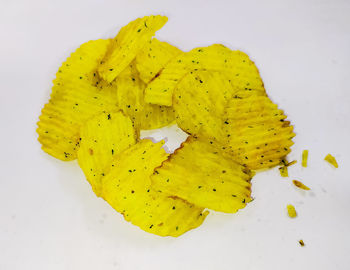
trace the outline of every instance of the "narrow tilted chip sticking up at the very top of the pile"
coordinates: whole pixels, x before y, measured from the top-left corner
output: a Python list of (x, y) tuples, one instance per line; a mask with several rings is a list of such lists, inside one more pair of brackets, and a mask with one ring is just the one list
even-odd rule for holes
[(112, 82), (167, 20), (167, 17), (160, 15), (145, 16), (122, 27), (98, 68), (100, 76)]

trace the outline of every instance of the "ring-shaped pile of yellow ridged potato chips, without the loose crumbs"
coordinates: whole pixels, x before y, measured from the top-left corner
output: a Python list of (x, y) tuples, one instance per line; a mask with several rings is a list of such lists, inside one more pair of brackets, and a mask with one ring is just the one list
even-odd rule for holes
[[(153, 38), (164, 16), (81, 45), (59, 68), (37, 132), (42, 149), (78, 160), (97, 196), (141, 229), (179, 236), (208, 210), (235, 213), (256, 171), (281, 164), (293, 127), (249, 57), (214, 44), (183, 52)], [(176, 123), (174, 153), (140, 130)]]

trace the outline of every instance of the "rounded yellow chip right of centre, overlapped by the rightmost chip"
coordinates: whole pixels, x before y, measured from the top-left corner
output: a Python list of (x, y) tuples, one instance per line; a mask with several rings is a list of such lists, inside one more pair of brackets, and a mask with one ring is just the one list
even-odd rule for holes
[(224, 74), (198, 70), (188, 73), (173, 96), (175, 118), (185, 132), (214, 140), (222, 137), (225, 107), (234, 89)]

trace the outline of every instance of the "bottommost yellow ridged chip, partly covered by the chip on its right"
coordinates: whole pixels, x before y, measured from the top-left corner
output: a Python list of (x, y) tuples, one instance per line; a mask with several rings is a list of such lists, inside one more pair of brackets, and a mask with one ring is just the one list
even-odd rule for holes
[(142, 230), (179, 236), (201, 225), (208, 212), (152, 188), (154, 168), (168, 157), (162, 144), (142, 140), (116, 157), (116, 166), (103, 178), (102, 197)]

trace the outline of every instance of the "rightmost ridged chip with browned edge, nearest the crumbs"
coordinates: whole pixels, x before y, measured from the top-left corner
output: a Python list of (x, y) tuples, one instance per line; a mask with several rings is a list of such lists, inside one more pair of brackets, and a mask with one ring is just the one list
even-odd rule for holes
[(251, 170), (276, 166), (291, 151), (291, 139), (295, 136), (293, 126), (285, 118), (267, 96), (244, 97), (237, 93), (222, 120), (226, 138), (223, 148)]

